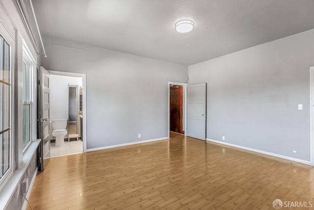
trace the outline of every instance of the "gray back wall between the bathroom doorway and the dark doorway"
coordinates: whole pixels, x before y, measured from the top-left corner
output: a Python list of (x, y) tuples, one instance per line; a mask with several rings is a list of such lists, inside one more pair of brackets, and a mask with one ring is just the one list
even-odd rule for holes
[(168, 81), (186, 82), (187, 66), (61, 40), (44, 42), (47, 70), (86, 74), (87, 149), (168, 136)]

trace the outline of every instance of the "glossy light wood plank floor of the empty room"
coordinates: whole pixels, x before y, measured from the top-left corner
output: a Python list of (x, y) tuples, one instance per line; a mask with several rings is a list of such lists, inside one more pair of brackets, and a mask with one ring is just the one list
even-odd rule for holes
[(274, 210), (274, 199), (314, 202), (313, 180), (307, 165), (172, 134), (52, 158), (29, 201), (34, 210)]

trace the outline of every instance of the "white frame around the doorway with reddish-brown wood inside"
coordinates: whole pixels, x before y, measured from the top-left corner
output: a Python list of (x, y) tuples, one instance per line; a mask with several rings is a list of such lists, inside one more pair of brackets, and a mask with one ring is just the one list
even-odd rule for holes
[(183, 88), (183, 129), (184, 136), (186, 136), (186, 87), (187, 83), (176, 83), (176, 82), (168, 82), (168, 139), (170, 138), (170, 85), (180, 85)]

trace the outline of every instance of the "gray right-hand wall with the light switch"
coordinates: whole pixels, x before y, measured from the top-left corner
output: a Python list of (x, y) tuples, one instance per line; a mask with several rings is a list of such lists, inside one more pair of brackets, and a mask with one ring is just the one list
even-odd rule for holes
[(189, 84), (207, 83), (207, 138), (310, 161), (313, 38), (309, 30), (189, 66)]

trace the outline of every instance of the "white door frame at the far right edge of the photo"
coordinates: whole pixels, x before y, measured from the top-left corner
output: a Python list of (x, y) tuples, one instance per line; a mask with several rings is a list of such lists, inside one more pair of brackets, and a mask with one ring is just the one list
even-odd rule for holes
[(310, 136), (310, 162), (314, 165), (314, 66), (310, 67)]

